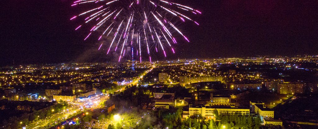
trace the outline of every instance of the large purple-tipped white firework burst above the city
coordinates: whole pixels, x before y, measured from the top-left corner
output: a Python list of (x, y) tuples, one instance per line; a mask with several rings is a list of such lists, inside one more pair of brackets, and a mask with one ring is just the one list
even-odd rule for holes
[[(185, 41), (188, 38), (173, 24), (176, 18), (180, 22), (190, 21), (199, 25), (186, 14), (201, 14), (191, 7), (170, 2), (169, 0), (77, 0), (72, 6), (89, 5), (93, 9), (84, 11), (70, 20), (78, 17), (84, 19), (83, 24), (76, 27), (90, 26), (84, 40), (87, 40), (93, 32), (98, 32), (98, 40), (106, 37), (111, 39), (106, 53), (118, 52), (119, 59), (125, 52), (135, 49), (140, 62), (142, 56), (147, 54), (151, 62), (151, 52), (161, 51), (166, 57), (166, 51), (175, 53), (173, 44), (176, 44), (175, 35), (181, 35)], [(87, 7), (87, 6), (86, 6)], [(173, 34), (172, 32), (176, 32)], [(105, 42), (100, 44), (98, 50)], [(154, 47), (151, 47), (154, 46)], [(167, 47), (170, 50), (167, 49)], [(127, 55), (127, 54), (126, 54)]]

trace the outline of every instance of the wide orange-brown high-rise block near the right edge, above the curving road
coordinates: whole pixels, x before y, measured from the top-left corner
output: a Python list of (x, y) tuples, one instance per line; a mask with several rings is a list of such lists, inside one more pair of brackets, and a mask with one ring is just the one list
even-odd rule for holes
[(283, 83), (278, 84), (277, 92), (280, 94), (301, 94), (304, 93), (303, 83)]

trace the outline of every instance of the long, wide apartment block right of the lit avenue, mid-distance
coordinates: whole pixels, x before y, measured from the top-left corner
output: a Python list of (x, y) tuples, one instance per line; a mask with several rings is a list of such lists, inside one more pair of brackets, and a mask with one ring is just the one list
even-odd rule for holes
[(186, 77), (181, 76), (179, 77), (180, 85), (185, 86), (187, 84), (191, 83), (197, 83), (197, 82), (213, 82), (213, 81), (223, 81), (223, 77), (221, 76), (204, 76), (204, 77)]

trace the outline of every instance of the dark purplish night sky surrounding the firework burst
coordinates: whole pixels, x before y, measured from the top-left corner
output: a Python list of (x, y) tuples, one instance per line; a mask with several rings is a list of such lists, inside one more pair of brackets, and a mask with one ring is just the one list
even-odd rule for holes
[[(179, 24), (190, 43), (156, 59), (297, 55), (318, 52), (318, 2), (174, 0), (202, 14), (200, 26)], [(71, 0), (3, 0), (0, 3), (0, 65), (113, 61), (96, 51), (97, 39), (74, 31)], [(179, 39), (181, 41), (181, 39)]]

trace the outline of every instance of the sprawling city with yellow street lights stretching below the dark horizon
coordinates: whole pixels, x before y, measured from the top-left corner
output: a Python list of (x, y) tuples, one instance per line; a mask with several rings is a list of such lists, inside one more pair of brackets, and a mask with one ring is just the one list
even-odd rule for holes
[(264, 56), (0, 67), (0, 124), (314, 129), (317, 66), (318, 56)]

